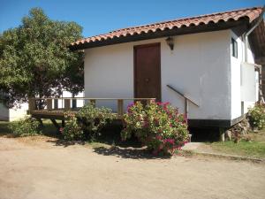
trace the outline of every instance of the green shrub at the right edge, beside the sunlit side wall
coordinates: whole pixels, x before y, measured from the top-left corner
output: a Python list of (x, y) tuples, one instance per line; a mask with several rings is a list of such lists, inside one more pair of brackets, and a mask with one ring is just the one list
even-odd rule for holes
[(253, 128), (261, 130), (265, 126), (265, 107), (262, 105), (255, 105), (254, 108), (248, 112), (248, 119)]

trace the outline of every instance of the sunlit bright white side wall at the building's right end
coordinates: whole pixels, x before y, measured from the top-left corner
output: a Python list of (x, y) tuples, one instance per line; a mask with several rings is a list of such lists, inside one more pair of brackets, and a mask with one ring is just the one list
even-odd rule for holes
[[(247, 63), (245, 63), (245, 43), (242, 37), (231, 31), (231, 38), (238, 43), (238, 57), (231, 54), (231, 119), (239, 118), (258, 100), (256, 74), (254, 72), (254, 54), (247, 47)], [(231, 49), (232, 50), (232, 49)], [(252, 88), (253, 87), (253, 88)], [(245, 89), (245, 90), (244, 90)], [(246, 90), (248, 89), (248, 90)]]

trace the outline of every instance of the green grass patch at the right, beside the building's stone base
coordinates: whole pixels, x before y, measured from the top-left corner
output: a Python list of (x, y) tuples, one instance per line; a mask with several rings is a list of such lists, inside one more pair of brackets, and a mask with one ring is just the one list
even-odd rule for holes
[(212, 142), (209, 143), (211, 148), (227, 155), (265, 158), (265, 129), (259, 133), (250, 133), (250, 142), (241, 140), (239, 143), (234, 142)]

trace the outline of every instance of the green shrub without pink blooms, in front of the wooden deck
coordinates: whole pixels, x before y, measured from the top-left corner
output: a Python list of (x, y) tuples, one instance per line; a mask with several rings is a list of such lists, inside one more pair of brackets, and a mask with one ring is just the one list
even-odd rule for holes
[(108, 108), (95, 107), (95, 104), (87, 104), (74, 116), (68, 112), (65, 114), (66, 123), (61, 130), (65, 140), (94, 140), (104, 126), (116, 117)]

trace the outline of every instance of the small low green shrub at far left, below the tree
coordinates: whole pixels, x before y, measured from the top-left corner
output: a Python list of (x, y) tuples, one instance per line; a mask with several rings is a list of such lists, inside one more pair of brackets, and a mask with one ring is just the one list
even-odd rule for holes
[(40, 123), (34, 118), (25, 118), (10, 123), (9, 128), (15, 136), (34, 136), (42, 134), (39, 128)]

